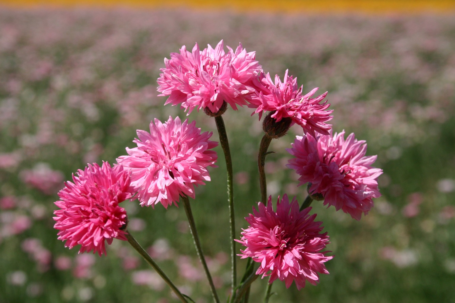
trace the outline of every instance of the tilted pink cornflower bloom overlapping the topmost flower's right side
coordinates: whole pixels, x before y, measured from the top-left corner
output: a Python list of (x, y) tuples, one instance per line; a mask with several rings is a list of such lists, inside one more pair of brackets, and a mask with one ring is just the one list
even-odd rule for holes
[(303, 85), (298, 87), (297, 78), (288, 76), (288, 70), (284, 74), (283, 82), (278, 75), (275, 76), (275, 82), (273, 82), (269, 73), (258, 79), (260, 79), (260, 83), (257, 84), (259, 93), (255, 98), (249, 100), (248, 107), (256, 109), (253, 114), (258, 113), (259, 119), (264, 111), (270, 111), (270, 117), (276, 122), (289, 117), (292, 119), (290, 126), (297, 123), (305, 133), (314, 135), (316, 131), (321, 134), (329, 134), (328, 131), (332, 125), (325, 122), (333, 118), (330, 115), (333, 110), (326, 110), (330, 106), (327, 101), (321, 103), (327, 96), (327, 92), (311, 99), (311, 96), (318, 90), (315, 88), (303, 95)]

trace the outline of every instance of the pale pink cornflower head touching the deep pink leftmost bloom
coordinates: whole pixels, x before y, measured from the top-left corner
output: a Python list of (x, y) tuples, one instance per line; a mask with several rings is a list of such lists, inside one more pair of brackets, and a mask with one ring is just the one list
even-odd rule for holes
[(196, 122), (183, 123), (169, 117), (166, 123), (150, 122), (150, 133), (137, 130), (133, 142), (137, 147), (126, 148), (127, 156), (117, 163), (131, 171), (131, 186), (137, 190), (142, 206), (152, 207), (161, 202), (167, 208), (177, 205), (179, 196), (194, 199), (194, 186), (210, 181), (207, 166), (216, 166), (217, 153), (210, 150), (218, 145), (210, 141), (212, 133), (201, 134)]

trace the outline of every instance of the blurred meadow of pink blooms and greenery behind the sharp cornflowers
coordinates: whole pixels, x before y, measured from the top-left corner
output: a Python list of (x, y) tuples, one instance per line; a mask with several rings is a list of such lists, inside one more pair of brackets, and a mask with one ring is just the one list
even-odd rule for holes
[[(368, 142), (383, 196), (359, 222), (313, 202), (335, 257), (329, 275), (300, 292), (273, 285), (270, 302), (454, 302), (454, 15), (272, 15), (187, 10), (0, 10), (0, 303), (176, 302), (126, 242), (107, 256), (64, 248), (53, 229), (63, 182), (86, 163), (114, 163), (151, 119), (185, 118), (163, 106), (156, 79), (182, 45), (224, 39), (255, 50), (266, 72), (329, 91), (335, 131)], [(224, 115), (235, 173), (238, 238), (260, 198), (262, 137), (252, 110)], [(203, 131), (214, 121), (202, 112)], [(273, 140), (268, 190), (306, 196), (285, 164), (293, 129)], [(230, 285), (225, 165), (192, 201), (221, 297)], [(198, 303), (211, 295), (183, 209), (125, 202), (129, 229)], [(125, 206), (125, 205), (124, 205)], [(239, 249), (239, 247), (238, 247)], [(239, 274), (245, 263), (239, 261)], [(262, 298), (266, 281), (253, 284)], [(254, 301), (254, 300), (252, 300)], [(259, 301), (254, 301), (259, 302)]]

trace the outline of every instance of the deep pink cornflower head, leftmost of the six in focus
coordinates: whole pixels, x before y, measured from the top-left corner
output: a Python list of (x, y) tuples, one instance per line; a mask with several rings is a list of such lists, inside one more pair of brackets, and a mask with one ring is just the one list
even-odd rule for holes
[(121, 166), (111, 168), (107, 162), (101, 167), (94, 163), (73, 174), (73, 182), (66, 182), (55, 204), (54, 228), (65, 247), (81, 244), (79, 253), (106, 254), (105, 241), (125, 240), (126, 211), (118, 204), (131, 199), (130, 175)]

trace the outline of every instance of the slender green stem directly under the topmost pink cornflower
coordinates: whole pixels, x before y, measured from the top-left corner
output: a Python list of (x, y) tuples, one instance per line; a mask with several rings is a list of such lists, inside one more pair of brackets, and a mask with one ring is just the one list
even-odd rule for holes
[(221, 115), (215, 117), (217, 124), (218, 135), (220, 137), (220, 144), (224, 152), (224, 159), (226, 160), (227, 168), (227, 203), (229, 204), (229, 224), (231, 227), (231, 280), (232, 289), (237, 285), (237, 265), (235, 255), (235, 216), (234, 216), (234, 191), (233, 191), (233, 170), (232, 170), (232, 159), (231, 151), (229, 150), (229, 142), (227, 141), (226, 127)]

